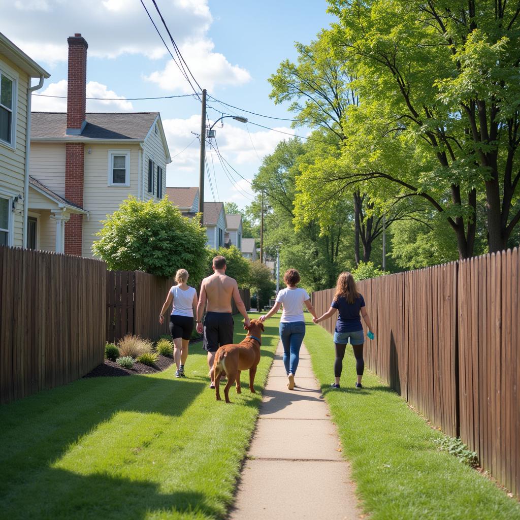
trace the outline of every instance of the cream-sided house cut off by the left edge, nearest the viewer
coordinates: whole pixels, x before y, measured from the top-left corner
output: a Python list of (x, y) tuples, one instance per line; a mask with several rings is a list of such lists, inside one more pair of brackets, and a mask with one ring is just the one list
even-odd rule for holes
[[(31, 78), (39, 82), (31, 86)], [(31, 94), (49, 73), (0, 33), (0, 245), (30, 243), (27, 225)]]

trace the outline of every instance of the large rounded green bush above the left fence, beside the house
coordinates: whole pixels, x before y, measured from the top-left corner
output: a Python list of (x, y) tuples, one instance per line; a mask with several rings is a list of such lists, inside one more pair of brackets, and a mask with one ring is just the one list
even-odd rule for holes
[(159, 202), (129, 197), (107, 215), (92, 246), (109, 269), (140, 270), (170, 277), (187, 269), (191, 283), (207, 269), (206, 233), (197, 219), (188, 219), (167, 197)]

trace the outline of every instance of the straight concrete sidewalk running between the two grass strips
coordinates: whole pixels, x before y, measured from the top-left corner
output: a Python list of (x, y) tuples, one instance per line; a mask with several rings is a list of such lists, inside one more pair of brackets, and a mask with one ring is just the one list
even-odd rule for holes
[(278, 345), (230, 520), (359, 518), (350, 466), (302, 345), (294, 391)]

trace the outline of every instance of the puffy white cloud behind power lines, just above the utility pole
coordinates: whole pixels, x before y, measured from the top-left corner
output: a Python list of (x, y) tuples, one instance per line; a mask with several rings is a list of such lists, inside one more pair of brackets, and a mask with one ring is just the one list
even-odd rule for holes
[[(251, 75), (247, 70), (238, 65), (232, 65), (223, 54), (214, 53), (215, 44), (211, 40), (189, 41), (179, 47), (191, 72), (203, 88), (213, 90), (217, 84), (243, 85), (251, 80)], [(168, 61), (162, 71), (152, 72), (146, 79), (157, 83), (165, 90), (192, 92), (173, 60)], [(195, 85), (193, 86), (197, 88)]]

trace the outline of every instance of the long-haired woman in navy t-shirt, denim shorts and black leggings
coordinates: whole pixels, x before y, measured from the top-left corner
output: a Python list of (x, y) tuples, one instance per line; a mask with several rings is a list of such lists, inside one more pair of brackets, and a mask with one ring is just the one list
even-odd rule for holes
[[(362, 388), (361, 378), (365, 369), (365, 361), (363, 361), (363, 343), (365, 337), (363, 334), (363, 326), (361, 324), (361, 316), (367, 324), (369, 333), (372, 333), (372, 323), (370, 316), (365, 307), (363, 296), (358, 293), (356, 281), (349, 272), (342, 272), (337, 278), (336, 294), (330, 304), (330, 309), (320, 316), (313, 319), (315, 323), (330, 318), (336, 311), (339, 316), (336, 321), (336, 329), (334, 332), (334, 345), (336, 347), (336, 360), (334, 361), (334, 377), (335, 383), (331, 384), (333, 388), (340, 387), (341, 371), (343, 369), (343, 357), (345, 356), (345, 348), (350, 338), (350, 344), (354, 349), (356, 357), (356, 388)], [(360, 316), (361, 313), (361, 316)]]

